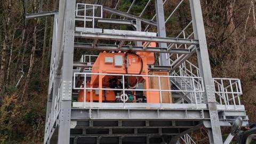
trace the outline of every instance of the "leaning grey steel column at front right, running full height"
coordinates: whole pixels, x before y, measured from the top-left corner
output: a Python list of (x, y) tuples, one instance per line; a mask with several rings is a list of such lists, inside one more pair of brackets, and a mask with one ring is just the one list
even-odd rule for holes
[(193, 20), (194, 36), (195, 39), (199, 40), (199, 47), (197, 47), (197, 59), (200, 69), (199, 74), (204, 79), (204, 102), (206, 102), (209, 106), (209, 113), (211, 118), (211, 129), (209, 129), (209, 139), (210, 143), (223, 143), (219, 124), (219, 116), (217, 111), (217, 102), (215, 100), (214, 94), (209, 54), (206, 44), (201, 3), (199, 0), (189, 0), (189, 2), (191, 17)]

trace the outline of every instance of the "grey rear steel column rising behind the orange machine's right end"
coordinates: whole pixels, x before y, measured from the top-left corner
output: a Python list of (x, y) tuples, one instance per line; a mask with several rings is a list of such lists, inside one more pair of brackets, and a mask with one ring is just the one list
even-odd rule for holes
[[(155, 0), (155, 5), (158, 37), (166, 37), (163, 0)], [(158, 45), (163, 48), (167, 47), (166, 43), (159, 43)], [(170, 66), (170, 60), (167, 53), (159, 54), (159, 64), (161, 66)]]

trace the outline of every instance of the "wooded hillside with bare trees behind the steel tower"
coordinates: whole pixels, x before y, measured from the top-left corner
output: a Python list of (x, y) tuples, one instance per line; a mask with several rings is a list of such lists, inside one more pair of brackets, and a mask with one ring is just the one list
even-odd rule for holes
[[(107, 5), (114, 8), (116, 0)], [(127, 11), (132, 1), (122, 1)], [(170, 14), (179, 0), (168, 1)], [(147, 0), (137, 1), (131, 13), (138, 15)], [(256, 1), (201, 0), (213, 77), (233, 77), (242, 81), (242, 103), (251, 122), (256, 121)], [(54, 9), (54, 2), (43, 1), (43, 11)], [(28, 12), (39, 11), (39, 0), (28, 3)], [(168, 36), (179, 34), (190, 21), (189, 3), (166, 24)], [(155, 14), (154, 2), (144, 18)], [(0, 143), (42, 143), (49, 81), (53, 19), (25, 21), (23, 0), (0, 1)], [(166, 14), (166, 15), (167, 15)], [(177, 31), (169, 31), (170, 29)], [(154, 28), (150, 28), (154, 31)], [(76, 52), (79, 59), (82, 52)], [(198, 143), (207, 141), (207, 132), (197, 134)], [(200, 139), (199, 139), (200, 137)]]

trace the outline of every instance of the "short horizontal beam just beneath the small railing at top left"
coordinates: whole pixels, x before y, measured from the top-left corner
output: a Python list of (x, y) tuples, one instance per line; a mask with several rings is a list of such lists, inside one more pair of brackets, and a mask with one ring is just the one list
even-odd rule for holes
[[(86, 18), (86, 21), (92, 21), (92, 18)], [(76, 21), (84, 21), (84, 18), (76, 17)], [(123, 19), (98, 19), (100, 23), (111, 23), (116, 25), (136, 25), (135, 20), (123, 20)]]

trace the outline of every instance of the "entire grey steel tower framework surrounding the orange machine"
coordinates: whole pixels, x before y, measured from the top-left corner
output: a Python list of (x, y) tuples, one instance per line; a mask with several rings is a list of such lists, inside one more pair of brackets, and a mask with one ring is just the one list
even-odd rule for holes
[[(106, 0), (95, 0), (87, 7), (92, 16), (86, 15), (86, 4), (76, 7), (76, 0), (60, 0), (59, 9), (49, 12), (42, 11), (42, 1), (38, 13), (28, 14), (26, 9), (26, 19), (54, 17), (44, 143), (178, 143), (183, 135), (190, 138), (186, 134), (202, 126), (209, 131), (210, 143), (223, 143), (220, 126), (231, 126), (229, 122), (237, 116), (243, 118), (243, 126), (248, 123), (239, 100), (242, 95), (239, 79), (212, 78), (199, 0), (187, 0), (192, 19), (175, 38), (166, 37), (165, 25), (186, 0), (179, 1), (169, 15), (164, 14), (167, 0), (149, 0), (139, 15), (131, 14), (136, 0), (126, 12), (118, 10), (121, 1), (111, 9), (105, 6)], [(142, 18), (151, 4), (155, 5), (156, 14), (150, 20)], [(78, 12), (85, 14), (77, 15)], [(101, 17), (103, 12), (106, 17)], [(84, 27), (76, 27), (76, 22), (84, 22)], [(94, 28), (98, 23), (132, 26), (136, 33)], [(145, 31), (150, 27), (157, 31), (149, 35)], [(186, 36), (189, 27), (193, 31)], [(150, 42), (158, 43), (158, 47), (149, 47)], [(77, 97), (73, 79), (79, 86), (83, 82), (81, 79), (90, 78), (73, 75), (88, 73), (93, 65), (91, 57), (89, 62), (74, 61), (74, 49), (154, 52), (159, 55), (159, 65), (148, 66), (149, 69), (168, 70), (176, 77), (201, 77), (205, 91), (203, 95), (195, 93), (196, 103), (185, 91), (173, 94), (178, 98), (177, 103), (72, 103), (71, 100)], [(199, 68), (187, 61), (195, 52)], [(182, 91), (179, 86), (182, 79), (177, 79), (172, 79), (172, 84)]]

